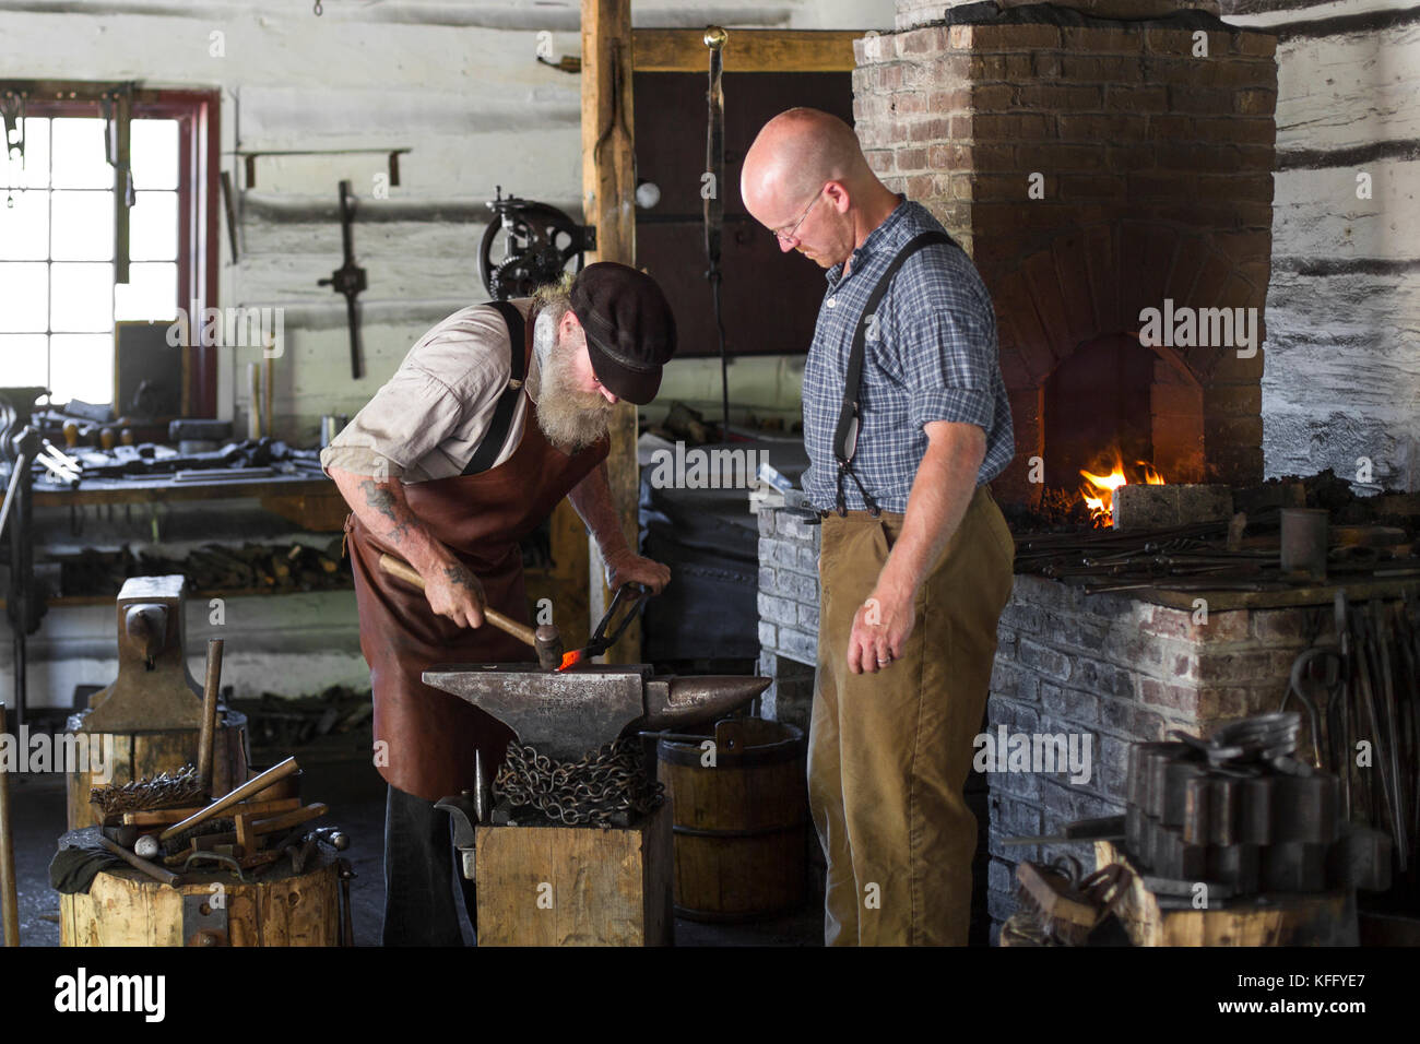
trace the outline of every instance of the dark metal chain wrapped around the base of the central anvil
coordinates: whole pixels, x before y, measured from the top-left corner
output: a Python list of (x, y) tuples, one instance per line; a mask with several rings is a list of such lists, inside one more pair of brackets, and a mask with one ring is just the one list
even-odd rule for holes
[(554, 761), (510, 743), (493, 785), (511, 805), (531, 805), (568, 827), (608, 827), (616, 812), (649, 812), (665, 801), (665, 787), (646, 776), (636, 736), (606, 743), (581, 761)]

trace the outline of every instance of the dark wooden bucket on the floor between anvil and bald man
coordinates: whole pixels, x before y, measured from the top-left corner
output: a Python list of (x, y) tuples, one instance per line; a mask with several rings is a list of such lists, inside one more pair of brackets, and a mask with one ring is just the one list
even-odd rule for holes
[[(713, 750), (703, 746), (707, 740), (714, 740)], [(656, 754), (674, 812), (676, 913), (690, 920), (748, 920), (802, 903), (808, 839), (802, 730), (731, 717), (716, 724), (713, 737), (666, 733)]]

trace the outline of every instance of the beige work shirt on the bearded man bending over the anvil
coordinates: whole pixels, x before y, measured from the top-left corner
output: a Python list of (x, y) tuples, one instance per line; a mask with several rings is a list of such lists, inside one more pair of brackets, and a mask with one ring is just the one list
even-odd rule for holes
[[(531, 298), (511, 301), (527, 318)], [(406, 484), (463, 474), (493, 423), (511, 374), (508, 328), (493, 308), (460, 308), (425, 334), (395, 375), (321, 450), (321, 467), (351, 474), (385, 472)], [(537, 352), (528, 368), (535, 388)], [(517, 449), (528, 399), (518, 398), (508, 437), (494, 466)]]

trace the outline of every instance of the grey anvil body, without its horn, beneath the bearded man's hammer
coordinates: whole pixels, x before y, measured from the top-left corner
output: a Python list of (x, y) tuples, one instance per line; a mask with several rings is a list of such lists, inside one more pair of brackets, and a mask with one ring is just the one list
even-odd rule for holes
[(469, 700), (540, 754), (577, 760), (645, 714), (650, 668), (592, 663), (569, 672), (532, 663), (440, 663), (425, 685)]

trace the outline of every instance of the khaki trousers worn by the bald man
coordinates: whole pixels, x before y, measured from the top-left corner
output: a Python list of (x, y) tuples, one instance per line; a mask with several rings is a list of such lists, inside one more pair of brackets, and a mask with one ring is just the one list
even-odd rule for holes
[(853, 614), (903, 516), (824, 520), (808, 787), (828, 861), (829, 946), (964, 946), (976, 817), (961, 795), (981, 730), (1014, 543), (985, 486), (916, 598), (900, 659), (848, 672)]

